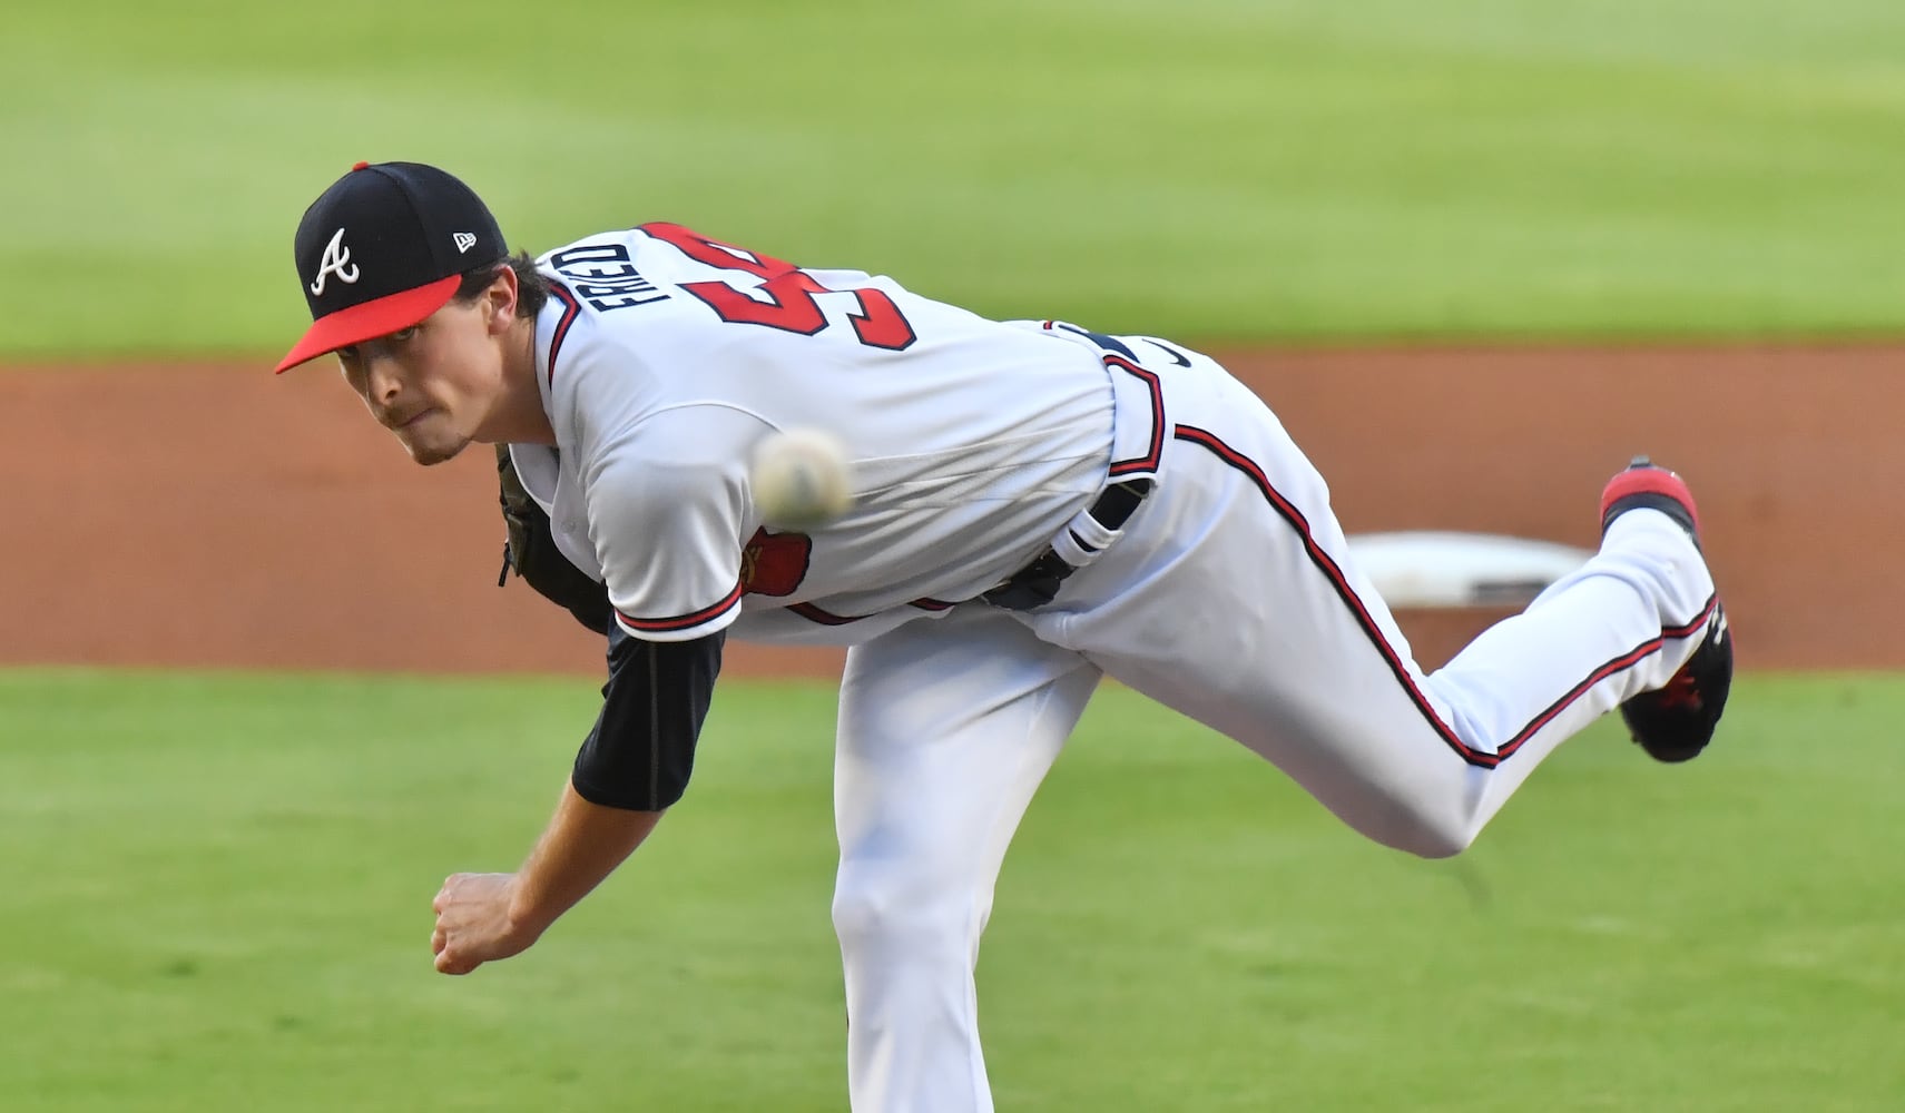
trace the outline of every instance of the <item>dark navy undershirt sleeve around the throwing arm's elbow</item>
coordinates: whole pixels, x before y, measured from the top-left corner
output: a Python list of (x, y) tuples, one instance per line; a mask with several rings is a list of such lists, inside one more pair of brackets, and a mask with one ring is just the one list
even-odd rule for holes
[(659, 812), (682, 799), (726, 640), (728, 631), (716, 631), (646, 642), (610, 625), (602, 715), (575, 755), (575, 795), (631, 812)]

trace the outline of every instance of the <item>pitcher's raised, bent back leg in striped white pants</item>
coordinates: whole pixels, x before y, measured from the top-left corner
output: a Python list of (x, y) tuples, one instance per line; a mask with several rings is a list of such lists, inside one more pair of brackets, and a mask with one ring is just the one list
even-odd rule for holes
[(1633, 511), (1587, 566), (1425, 677), (1274, 415), (1208, 360), (1166, 387), (1156, 505), (1034, 621), (1379, 842), (1459, 852), (1562, 739), (1667, 684), (1716, 619), (1688, 534)]

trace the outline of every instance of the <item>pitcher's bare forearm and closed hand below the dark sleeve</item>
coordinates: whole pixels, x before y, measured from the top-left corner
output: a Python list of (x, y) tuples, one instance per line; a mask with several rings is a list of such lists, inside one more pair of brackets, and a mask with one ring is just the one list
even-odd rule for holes
[(562, 800), (535, 850), (516, 873), (457, 873), (436, 894), (431, 951), (444, 974), (469, 974), (484, 962), (528, 949), (549, 924), (615, 871), (661, 812), (591, 804), (562, 787)]

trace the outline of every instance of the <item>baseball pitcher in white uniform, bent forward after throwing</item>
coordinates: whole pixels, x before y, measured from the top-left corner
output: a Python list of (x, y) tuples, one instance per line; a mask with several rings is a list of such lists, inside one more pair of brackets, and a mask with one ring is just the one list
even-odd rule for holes
[[(507, 444), (518, 507), (608, 633), (600, 718), (514, 873), (436, 896), (436, 968), (531, 945), (684, 793), (732, 637), (846, 644), (832, 919), (859, 1113), (993, 1107), (973, 964), (1006, 846), (1101, 677), (1250, 747), (1362, 835), (1461, 852), (1621, 709), (1695, 757), (1732, 638), (1673, 473), (1636, 459), (1602, 541), (1425, 675), (1276, 415), (1183, 345), (998, 322), (672, 223), (511, 255), (442, 170), (358, 164), (305, 212), (312, 324), (417, 463)], [(766, 438), (844, 446), (850, 509), (764, 515)], [(509, 494), (505, 492), (505, 501)], [(600, 585), (600, 587), (598, 587)]]

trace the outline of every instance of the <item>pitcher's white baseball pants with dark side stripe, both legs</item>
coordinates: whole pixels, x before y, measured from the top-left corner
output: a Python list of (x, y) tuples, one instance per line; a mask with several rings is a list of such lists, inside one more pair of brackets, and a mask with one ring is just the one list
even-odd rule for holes
[(855, 1113), (993, 1109), (979, 938), (1006, 846), (1099, 677), (1250, 747), (1362, 835), (1440, 858), (1705, 633), (1699, 551), (1634, 511), (1581, 570), (1423, 675), (1322, 476), (1255, 395), (1191, 360), (1147, 364), (1172, 431), (1160, 486), (1053, 604), (964, 604), (848, 654), (832, 911)]

